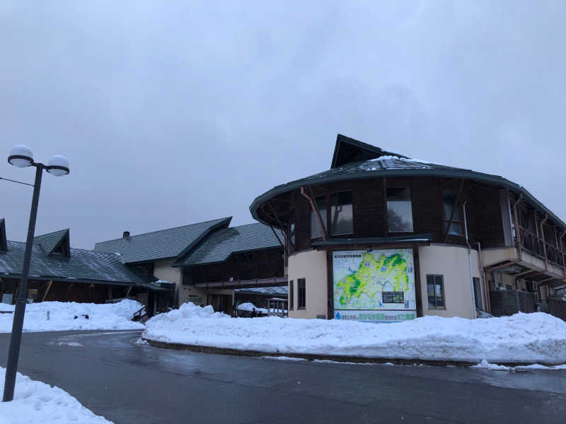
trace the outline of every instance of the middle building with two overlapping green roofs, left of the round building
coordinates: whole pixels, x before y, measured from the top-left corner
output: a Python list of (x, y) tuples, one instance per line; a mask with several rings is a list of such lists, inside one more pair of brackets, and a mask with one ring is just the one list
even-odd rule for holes
[(234, 289), (287, 284), (283, 235), (268, 225), (229, 227), (231, 217), (96, 243), (129, 266), (175, 284), (175, 302), (233, 312)]

